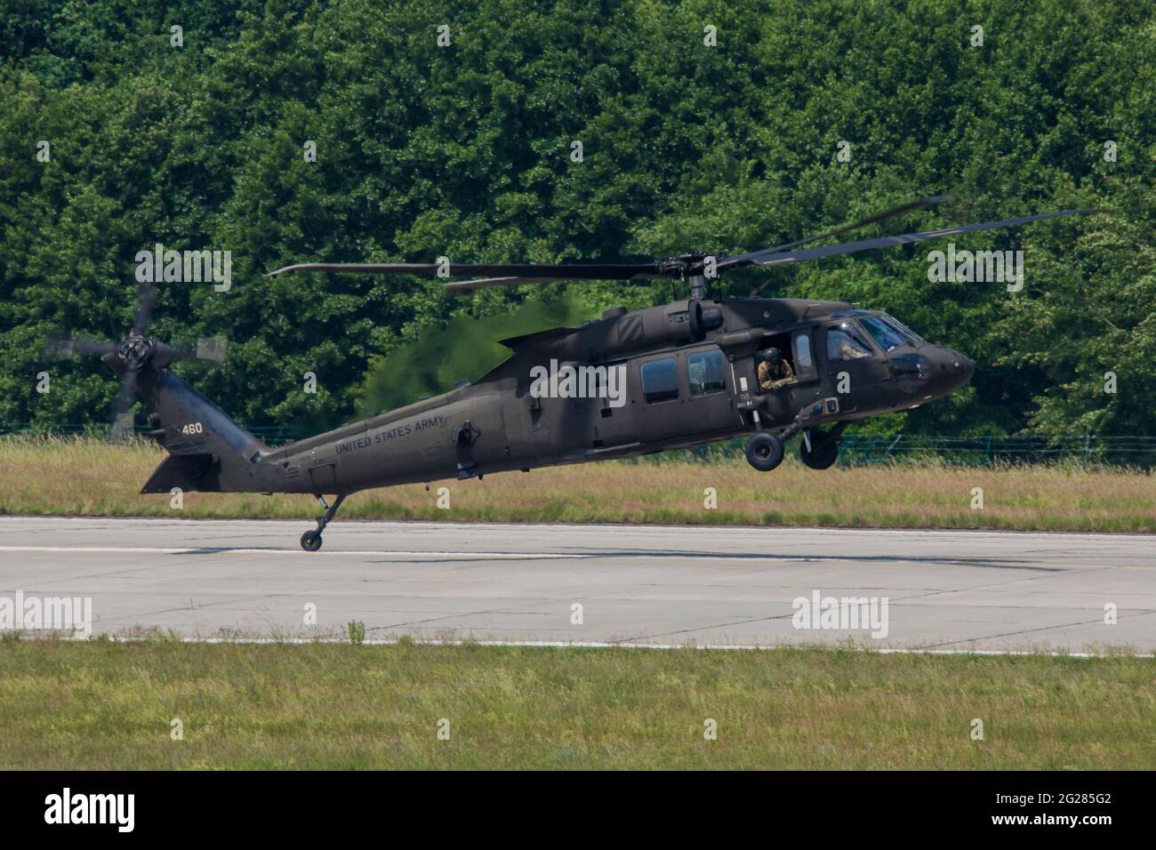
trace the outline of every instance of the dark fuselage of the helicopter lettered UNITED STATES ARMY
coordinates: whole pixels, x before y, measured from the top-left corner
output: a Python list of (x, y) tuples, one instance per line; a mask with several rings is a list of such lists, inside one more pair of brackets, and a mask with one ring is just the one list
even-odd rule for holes
[[(706, 302), (608, 310), (578, 328), (506, 340), (477, 383), (333, 431), (264, 449), (243, 489), (313, 494), (631, 457), (917, 407), (965, 384), (973, 362), (884, 313), (839, 302)], [(794, 380), (765, 390), (758, 352)]]

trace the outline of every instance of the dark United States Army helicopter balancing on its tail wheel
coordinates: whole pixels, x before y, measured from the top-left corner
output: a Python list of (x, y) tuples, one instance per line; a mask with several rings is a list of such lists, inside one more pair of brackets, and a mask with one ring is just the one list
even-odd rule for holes
[[(922, 340), (898, 319), (836, 301), (706, 297), (710, 281), (746, 266), (775, 266), (1008, 228), (1092, 209), (803, 247), (905, 213), (933, 207), (924, 198), (816, 236), (735, 256), (688, 253), (643, 264), (328, 264), (305, 263), (269, 274), (334, 272), (470, 278), (449, 293), (555, 280), (677, 279), (689, 300), (628, 311), (612, 308), (581, 327), (557, 327), (502, 340), (511, 355), (476, 383), (280, 448), (232, 421), (170, 371), (188, 350), (146, 337), (151, 297), (120, 343), (66, 346), (103, 354), (121, 378), (121, 398), (148, 408), (148, 436), (169, 452), (141, 493), (172, 488), (207, 493), (302, 493), (323, 515), (302, 534), (306, 552), (350, 494), (373, 487), (482, 479), (495, 472), (608, 458), (748, 436), (747, 459), (769, 472), (784, 443), (802, 434), (800, 457), (814, 470), (838, 458), (844, 429), (880, 413), (905, 411), (963, 386), (975, 362)], [(482, 276), (479, 275), (492, 275)], [(212, 347), (210, 347), (212, 349)], [(759, 382), (758, 359), (790, 365), (786, 382)], [(203, 356), (202, 352), (199, 352)], [(195, 356), (195, 355), (194, 355)], [(212, 350), (209, 359), (215, 359)], [(331, 502), (326, 496), (332, 495)]]

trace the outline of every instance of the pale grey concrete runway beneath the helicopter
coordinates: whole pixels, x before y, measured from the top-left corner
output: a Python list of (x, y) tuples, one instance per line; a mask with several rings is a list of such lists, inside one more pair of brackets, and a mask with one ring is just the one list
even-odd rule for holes
[(375, 640), (1156, 650), (1153, 537), (339, 520), (310, 554), (307, 527), (3, 517), (0, 599), (89, 597), (92, 633), (125, 636), (361, 621)]

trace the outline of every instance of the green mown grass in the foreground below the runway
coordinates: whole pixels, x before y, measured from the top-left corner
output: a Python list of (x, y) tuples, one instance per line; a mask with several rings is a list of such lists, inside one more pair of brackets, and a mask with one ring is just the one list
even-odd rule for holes
[(1154, 722), (1125, 656), (0, 643), (0, 768), (1138, 769)]

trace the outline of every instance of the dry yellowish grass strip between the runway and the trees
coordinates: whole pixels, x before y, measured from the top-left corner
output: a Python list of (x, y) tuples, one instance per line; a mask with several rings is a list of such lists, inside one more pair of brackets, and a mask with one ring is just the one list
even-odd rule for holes
[[(0, 513), (304, 518), (309, 496), (138, 490), (161, 461), (144, 442), (0, 438)], [(450, 509), (436, 505), (450, 489)], [(718, 507), (704, 507), (704, 489)], [(972, 508), (983, 488), (984, 507)], [(712, 523), (1025, 531), (1156, 532), (1156, 475), (1077, 465), (958, 467), (939, 463), (808, 470), (788, 457), (771, 473), (717, 464), (603, 461), (487, 475), (351, 496), (342, 519)]]

